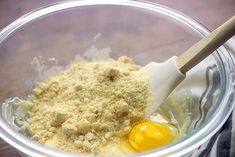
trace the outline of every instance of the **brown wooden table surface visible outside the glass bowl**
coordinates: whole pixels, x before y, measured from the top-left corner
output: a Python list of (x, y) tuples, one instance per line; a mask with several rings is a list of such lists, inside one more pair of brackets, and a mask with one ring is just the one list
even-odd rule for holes
[[(235, 14), (235, 0), (151, 0), (179, 10), (213, 30)], [(0, 0), (0, 30), (21, 15), (56, 0)], [(0, 139), (0, 157), (20, 157)]]

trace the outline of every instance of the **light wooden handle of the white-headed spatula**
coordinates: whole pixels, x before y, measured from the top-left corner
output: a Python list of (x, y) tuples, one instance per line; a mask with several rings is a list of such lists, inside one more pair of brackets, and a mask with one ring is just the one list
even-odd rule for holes
[(205, 38), (201, 39), (177, 59), (176, 63), (182, 73), (186, 73), (192, 67), (197, 65), (214, 50), (225, 43), (235, 34), (235, 15), (226, 21), (223, 25), (215, 29)]

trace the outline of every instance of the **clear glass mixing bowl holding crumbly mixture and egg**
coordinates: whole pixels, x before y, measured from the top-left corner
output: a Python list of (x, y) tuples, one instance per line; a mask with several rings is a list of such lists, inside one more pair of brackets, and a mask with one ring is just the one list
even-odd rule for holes
[[(89, 58), (90, 51), (99, 50), (104, 57), (111, 51), (113, 58), (127, 55), (146, 65), (179, 55), (208, 33), (178, 11), (143, 1), (68, 1), (40, 8), (0, 32), (0, 103), (26, 98), (38, 79), (62, 70), (78, 55)], [(221, 46), (197, 68), (181, 85), (194, 89), (198, 98), (188, 108), (195, 120), (192, 131), (169, 146), (136, 156), (195, 155), (225, 123), (234, 104), (233, 59)], [(201, 84), (203, 88), (197, 88)], [(0, 136), (20, 152), (82, 156), (44, 147), (17, 132), (11, 121), (14, 111), (3, 104)]]

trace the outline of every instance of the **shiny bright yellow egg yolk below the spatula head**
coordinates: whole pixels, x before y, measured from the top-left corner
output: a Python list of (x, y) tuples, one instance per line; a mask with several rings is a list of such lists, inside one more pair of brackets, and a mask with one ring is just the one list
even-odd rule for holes
[(132, 128), (128, 141), (136, 151), (144, 152), (165, 146), (173, 142), (174, 137), (166, 125), (143, 121)]

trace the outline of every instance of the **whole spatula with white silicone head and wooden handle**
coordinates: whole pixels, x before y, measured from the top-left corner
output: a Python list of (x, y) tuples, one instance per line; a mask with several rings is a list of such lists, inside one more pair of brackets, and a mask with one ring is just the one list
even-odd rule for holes
[(235, 34), (235, 16), (211, 32), (205, 38), (189, 48), (179, 57), (172, 57), (163, 63), (151, 62), (145, 66), (149, 75), (151, 101), (147, 106), (147, 115), (169, 96), (175, 87), (185, 78), (185, 74), (214, 50)]

